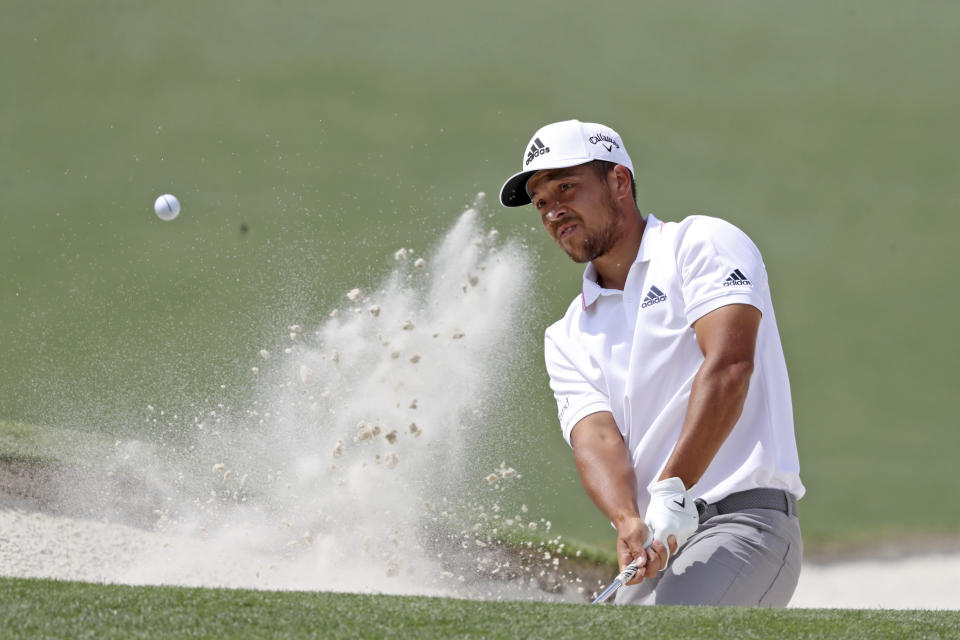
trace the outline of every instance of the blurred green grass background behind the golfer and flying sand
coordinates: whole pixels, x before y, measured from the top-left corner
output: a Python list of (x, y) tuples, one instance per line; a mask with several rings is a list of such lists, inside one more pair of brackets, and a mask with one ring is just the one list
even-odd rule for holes
[(577, 117), (623, 135), (642, 210), (763, 251), (808, 543), (956, 533), (958, 41), (947, 2), (7, 0), (0, 418), (123, 430), (242, 389), (262, 344), (483, 191), (538, 265), (500, 446), (554, 531), (609, 544), (541, 365), (581, 268), (495, 201)]

